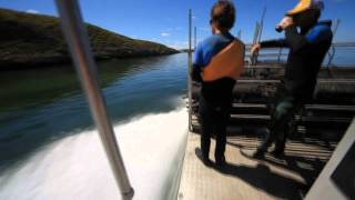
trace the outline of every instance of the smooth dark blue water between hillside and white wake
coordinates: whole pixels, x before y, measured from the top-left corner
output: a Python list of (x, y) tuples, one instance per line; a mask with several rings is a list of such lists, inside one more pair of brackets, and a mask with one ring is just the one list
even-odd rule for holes
[[(99, 63), (100, 84), (114, 123), (176, 108), (186, 88), (186, 54)], [(34, 149), (92, 127), (72, 67), (0, 74), (0, 168)]]

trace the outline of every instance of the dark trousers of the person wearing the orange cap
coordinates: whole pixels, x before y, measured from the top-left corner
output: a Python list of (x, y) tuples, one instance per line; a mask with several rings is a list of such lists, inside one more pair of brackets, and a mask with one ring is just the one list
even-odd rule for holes
[(290, 94), (284, 88), (278, 88), (276, 97), (271, 103), (271, 122), (268, 124), (270, 132), (266, 133), (264, 141), (258, 147), (258, 151), (265, 152), (267, 148), (275, 142), (276, 151), (284, 151), (290, 132), (290, 123), (304, 104), (300, 98)]

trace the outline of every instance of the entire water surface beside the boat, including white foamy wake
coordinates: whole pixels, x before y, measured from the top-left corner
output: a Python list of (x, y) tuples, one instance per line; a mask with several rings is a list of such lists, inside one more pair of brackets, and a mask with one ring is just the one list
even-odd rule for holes
[[(98, 63), (134, 199), (176, 197), (186, 64), (185, 53)], [(0, 199), (120, 197), (70, 64), (1, 72), (0, 88)]]

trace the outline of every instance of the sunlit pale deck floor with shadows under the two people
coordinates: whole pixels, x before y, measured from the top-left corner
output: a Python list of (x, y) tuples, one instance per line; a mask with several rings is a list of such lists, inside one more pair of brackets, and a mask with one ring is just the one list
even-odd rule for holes
[[(285, 156), (252, 160), (240, 148), (255, 149), (261, 134), (229, 134), (223, 168), (205, 167), (196, 153), (200, 136), (189, 133), (179, 200), (303, 199), (332, 156), (338, 140), (298, 137), (287, 141)], [(316, 139), (314, 139), (316, 138)], [(214, 160), (214, 140), (210, 159)]]

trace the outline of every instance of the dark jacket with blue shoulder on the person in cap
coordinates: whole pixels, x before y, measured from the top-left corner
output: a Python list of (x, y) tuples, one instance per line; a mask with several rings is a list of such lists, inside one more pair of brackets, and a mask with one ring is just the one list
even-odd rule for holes
[(332, 44), (331, 26), (331, 21), (318, 22), (301, 32), (296, 27), (288, 27), (285, 39), (261, 42), (262, 48), (290, 48), (284, 77), (285, 89), (290, 94), (303, 100), (312, 99), (318, 71)]

